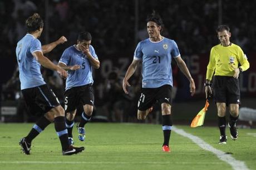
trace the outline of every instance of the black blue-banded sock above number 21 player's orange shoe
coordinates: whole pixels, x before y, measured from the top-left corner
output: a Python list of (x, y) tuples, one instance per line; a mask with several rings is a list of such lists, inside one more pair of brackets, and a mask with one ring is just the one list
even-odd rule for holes
[(171, 114), (163, 115), (163, 132), (164, 132), (164, 145), (169, 146), (171, 127), (173, 126), (173, 121), (171, 119)]

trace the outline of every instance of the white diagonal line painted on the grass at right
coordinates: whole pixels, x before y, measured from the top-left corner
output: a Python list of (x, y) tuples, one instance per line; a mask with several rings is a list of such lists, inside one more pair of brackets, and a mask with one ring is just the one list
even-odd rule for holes
[(221, 161), (224, 161), (230, 164), (230, 166), (232, 166), (234, 170), (241, 170), (241, 169), (249, 170), (243, 161), (238, 161), (232, 156), (230, 156), (230, 154), (225, 154), (225, 152), (210, 146), (210, 144), (204, 142), (203, 139), (197, 136), (194, 136), (193, 134), (186, 133), (183, 129), (178, 129), (176, 127), (173, 127), (172, 130), (180, 134), (181, 136), (191, 139), (191, 141), (196, 143), (199, 147), (203, 148), (204, 150), (214, 153)]

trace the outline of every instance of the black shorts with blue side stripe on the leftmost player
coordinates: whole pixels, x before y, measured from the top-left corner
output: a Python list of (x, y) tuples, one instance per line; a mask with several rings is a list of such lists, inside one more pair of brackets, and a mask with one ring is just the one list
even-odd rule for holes
[(42, 115), (60, 105), (58, 98), (47, 84), (22, 90), (28, 110), (32, 115)]

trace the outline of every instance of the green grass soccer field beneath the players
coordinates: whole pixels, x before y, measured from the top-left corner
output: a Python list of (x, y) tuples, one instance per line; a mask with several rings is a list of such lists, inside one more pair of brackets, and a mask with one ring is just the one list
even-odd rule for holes
[[(0, 169), (234, 169), (221, 161), (223, 155), (205, 151), (190, 138), (171, 133), (171, 152), (161, 151), (163, 131), (159, 124), (88, 123), (86, 141), (77, 139), (75, 145), (85, 146), (85, 152), (62, 156), (60, 142), (53, 124), (32, 143), (31, 155), (21, 153), (18, 141), (33, 124), (0, 124)], [(219, 145), (216, 127), (190, 128), (176, 126), (203, 139), (211, 147), (224, 152), (248, 169), (256, 169), (256, 129), (238, 129), (239, 138)], [(231, 159), (233, 160), (233, 159)], [(231, 162), (232, 163), (232, 162)]]

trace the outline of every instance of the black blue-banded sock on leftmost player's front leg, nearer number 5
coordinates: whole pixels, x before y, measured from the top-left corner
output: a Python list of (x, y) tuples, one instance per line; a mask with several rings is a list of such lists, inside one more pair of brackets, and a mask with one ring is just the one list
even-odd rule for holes
[(68, 136), (67, 128), (65, 125), (65, 117), (58, 116), (54, 119), (55, 131), (57, 132), (58, 138), (61, 141), (62, 151), (66, 151), (68, 148)]

